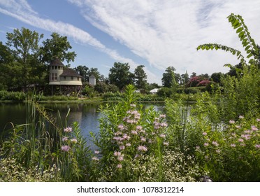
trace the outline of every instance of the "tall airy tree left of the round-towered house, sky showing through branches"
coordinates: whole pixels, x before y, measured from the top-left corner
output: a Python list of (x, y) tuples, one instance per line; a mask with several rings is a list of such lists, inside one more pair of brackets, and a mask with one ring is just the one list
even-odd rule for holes
[(42, 69), (42, 64), (38, 61), (38, 42), (43, 38), (43, 34), (39, 35), (36, 31), (22, 27), (21, 30), (14, 29), (13, 33), (7, 33), (6, 38), (6, 45), (12, 48), (15, 59), (13, 64), (20, 66), (20, 69), (16, 69), (19, 72), (17, 75), (21, 76), (18, 84), (27, 91), (27, 85), (42, 77), (42, 73), (37, 70)]

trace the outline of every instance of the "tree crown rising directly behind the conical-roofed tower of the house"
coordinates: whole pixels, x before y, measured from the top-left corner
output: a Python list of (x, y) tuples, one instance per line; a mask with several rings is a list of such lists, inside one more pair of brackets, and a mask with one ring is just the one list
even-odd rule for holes
[(68, 42), (66, 36), (60, 36), (56, 32), (51, 34), (52, 38), (48, 38), (43, 41), (41, 47), (41, 60), (47, 64), (50, 64), (54, 57), (58, 57), (62, 62), (73, 62), (76, 57), (75, 52), (68, 52), (71, 49), (71, 44)]

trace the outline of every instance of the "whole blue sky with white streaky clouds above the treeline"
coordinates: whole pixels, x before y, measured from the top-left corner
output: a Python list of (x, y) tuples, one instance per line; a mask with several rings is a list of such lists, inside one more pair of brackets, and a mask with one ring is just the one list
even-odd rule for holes
[(231, 13), (260, 44), (260, 0), (0, 0), (0, 41), (22, 27), (44, 34), (42, 41), (57, 32), (77, 54), (72, 68), (94, 67), (108, 77), (115, 62), (129, 63), (131, 72), (142, 64), (148, 82), (160, 85), (168, 66), (211, 75), (239, 63), (229, 52), (196, 50), (220, 43), (244, 52)]

